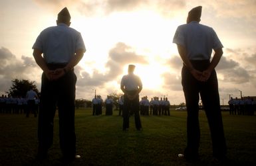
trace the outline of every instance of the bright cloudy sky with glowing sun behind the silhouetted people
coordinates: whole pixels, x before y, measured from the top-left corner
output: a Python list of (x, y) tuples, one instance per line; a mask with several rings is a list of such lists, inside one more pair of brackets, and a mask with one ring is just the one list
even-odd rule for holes
[(67, 7), (70, 27), (82, 34), (86, 52), (76, 65), (76, 99), (106, 99), (120, 94), (128, 64), (142, 79), (140, 97), (168, 97), (185, 103), (182, 60), (172, 43), (188, 11), (201, 5), (201, 24), (211, 26), (223, 44), (216, 67), (221, 104), (229, 97), (256, 96), (256, 0), (1, 0), (0, 95), (13, 79), (35, 81), (41, 89), (41, 68), (32, 46), (39, 33), (55, 26)]

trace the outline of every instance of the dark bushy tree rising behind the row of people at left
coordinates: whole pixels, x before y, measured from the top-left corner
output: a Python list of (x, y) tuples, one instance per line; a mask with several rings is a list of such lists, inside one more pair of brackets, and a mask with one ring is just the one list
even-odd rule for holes
[(29, 81), (27, 79), (13, 79), (11, 81), (13, 82), (13, 85), (9, 91), (7, 91), (8, 95), (11, 95), (12, 97), (26, 97), (27, 91), (31, 88), (37, 93), (37, 95), (39, 95), (39, 90), (35, 85), (35, 81)]

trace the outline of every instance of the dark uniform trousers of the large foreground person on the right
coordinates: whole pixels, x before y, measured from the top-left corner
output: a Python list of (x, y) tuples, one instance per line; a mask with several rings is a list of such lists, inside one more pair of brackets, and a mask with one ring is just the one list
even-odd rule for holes
[[(209, 66), (209, 60), (192, 60), (195, 69), (203, 71)], [(188, 71), (186, 66), (182, 68), (182, 86), (188, 110), (187, 117), (187, 147), (185, 156), (198, 157), (200, 130), (199, 130), (199, 94), (205, 108), (211, 141), (213, 156), (217, 158), (225, 157), (227, 147), (223, 131), (223, 122), (219, 103), (219, 91), (217, 74), (212, 71), (206, 82), (197, 81)]]

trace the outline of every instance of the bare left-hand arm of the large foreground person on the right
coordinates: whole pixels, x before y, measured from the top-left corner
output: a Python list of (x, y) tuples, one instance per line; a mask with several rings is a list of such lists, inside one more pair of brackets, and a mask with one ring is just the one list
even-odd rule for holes
[(188, 68), (190, 73), (192, 73), (192, 75), (193, 75), (193, 77), (195, 77), (195, 79), (197, 79), (198, 81), (201, 81), (202, 72), (193, 68), (192, 63), (186, 56), (186, 48), (184, 48), (184, 46), (182, 46), (180, 44), (177, 44), (177, 47), (178, 47), (178, 52), (180, 54), (180, 57), (182, 58), (183, 63), (186, 65), (186, 67)]

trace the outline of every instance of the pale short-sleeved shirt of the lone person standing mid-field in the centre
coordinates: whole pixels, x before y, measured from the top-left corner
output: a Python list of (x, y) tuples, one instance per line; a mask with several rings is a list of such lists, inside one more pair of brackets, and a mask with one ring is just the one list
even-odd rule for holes
[(142, 81), (140, 80), (140, 77), (134, 75), (134, 73), (130, 73), (122, 77), (121, 87), (124, 87), (126, 91), (135, 91), (138, 87), (142, 87)]

